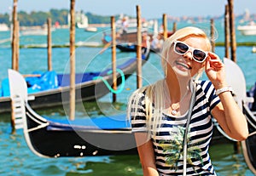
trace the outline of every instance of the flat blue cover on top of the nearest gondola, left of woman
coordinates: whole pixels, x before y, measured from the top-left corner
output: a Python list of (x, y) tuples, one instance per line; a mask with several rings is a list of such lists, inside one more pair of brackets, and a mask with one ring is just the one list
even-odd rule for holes
[(49, 119), (48, 130), (57, 131), (73, 131), (73, 130), (88, 130), (88, 129), (103, 129), (103, 130), (130, 130), (131, 124), (126, 119), (125, 114), (116, 116), (100, 116), (88, 117), (83, 119)]

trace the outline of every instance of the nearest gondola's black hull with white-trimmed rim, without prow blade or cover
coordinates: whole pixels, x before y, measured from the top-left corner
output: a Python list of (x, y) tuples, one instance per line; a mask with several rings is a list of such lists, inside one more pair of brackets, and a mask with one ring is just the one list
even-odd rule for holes
[[(24, 134), (29, 148), (38, 156), (109, 156), (137, 154), (131, 128), (77, 128), (50, 122), (26, 108)], [(51, 123), (54, 123), (51, 124)]]

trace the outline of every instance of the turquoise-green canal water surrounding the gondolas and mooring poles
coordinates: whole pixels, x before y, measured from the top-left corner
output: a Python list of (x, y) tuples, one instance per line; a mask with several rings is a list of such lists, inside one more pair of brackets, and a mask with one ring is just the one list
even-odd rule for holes
[[(184, 26), (184, 25), (183, 25)], [(179, 26), (177, 26), (179, 27)], [(223, 27), (217, 24), (218, 38), (216, 42), (224, 41)], [(86, 32), (82, 29), (76, 31), (77, 43), (101, 43), (101, 28), (96, 33)], [(9, 37), (9, 32), (0, 33), (0, 41)], [(52, 33), (53, 44), (65, 44), (69, 42), (68, 29), (56, 29)], [(238, 42), (253, 42), (256, 37), (242, 37), (237, 31)], [(20, 45), (45, 44), (46, 37), (21, 36)], [(111, 63), (111, 50), (108, 48), (103, 53), (102, 48), (79, 47), (76, 48), (76, 71), (102, 71)], [(220, 58), (224, 57), (224, 48), (217, 47), (216, 53)], [(252, 47), (237, 48), (237, 64), (241, 66), (247, 82), (247, 89), (256, 81), (256, 54), (252, 53)], [(134, 57), (132, 53), (117, 52), (118, 62)], [(11, 48), (9, 43), (0, 43), (0, 81), (7, 77), (7, 70), (11, 68)], [(53, 48), (53, 69), (56, 72), (69, 71), (69, 48)], [(47, 70), (46, 48), (20, 48), (20, 72), (23, 74), (32, 71)], [(160, 68), (159, 54), (151, 54), (148, 62), (143, 65), (143, 84), (155, 82), (163, 77)], [(125, 82), (124, 90), (117, 95), (117, 103), (111, 103), (112, 95), (107, 94), (96, 102), (77, 105), (76, 118), (84, 116), (104, 116), (107, 114), (125, 113), (128, 97), (136, 89), (136, 76), (133, 75)], [(0, 107), (1, 108), (1, 107)], [(85, 110), (85, 111), (84, 111)], [(63, 107), (40, 110), (39, 114), (52, 118), (67, 118)], [(216, 172), (220, 176), (253, 175), (241, 154), (236, 154), (233, 145), (212, 145), (210, 148), (212, 162)], [(11, 134), (9, 114), (0, 115), (0, 175), (14, 176), (125, 176), (140, 175), (142, 169), (137, 155), (132, 156), (91, 156), (91, 157), (63, 157), (41, 158), (35, 156), (28, 149), (22, 130)]]

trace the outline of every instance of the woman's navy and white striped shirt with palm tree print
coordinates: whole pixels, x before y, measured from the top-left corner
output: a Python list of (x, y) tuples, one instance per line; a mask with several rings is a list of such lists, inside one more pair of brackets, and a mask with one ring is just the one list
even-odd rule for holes
[[(187, 175), (216, 175), (208, 149), (213, 129), (211, 111), (220, 100), (215, 94), (212, 82), (200, 81), (195, 91), (195, 104), (187, 138)], [(188, 113), (183, 116), (162, 113), (160, 128), (154, 133), (152, 127), (148, 129), (145, 92), (137, 96), (139, 102), (136, 105), (131, 103), (132, 131), (150, 134), (160, 175), (183, 175), (183, 133)], [(131, 102), (134, 102), (134, 99), (131, 99)]]

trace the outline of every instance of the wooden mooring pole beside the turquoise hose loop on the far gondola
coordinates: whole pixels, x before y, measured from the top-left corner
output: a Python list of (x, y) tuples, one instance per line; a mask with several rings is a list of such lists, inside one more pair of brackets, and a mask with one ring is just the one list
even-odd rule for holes
[[(111, 16), (111, 33), (112, 33), (112, 74), (113, 74), (113, 90), (117, 89), (116, 77), (116, 30), (114, 16)], [(116, 102), (116, 94), (113, 93), (113, 102)]]

